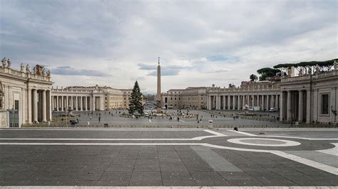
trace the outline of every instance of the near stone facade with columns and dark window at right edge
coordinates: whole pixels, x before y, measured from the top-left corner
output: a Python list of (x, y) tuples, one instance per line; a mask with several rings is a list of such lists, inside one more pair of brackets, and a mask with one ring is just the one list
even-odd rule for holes
[(284, 78), (280, 96), (282, 120), (337, 123), (338, 69)]

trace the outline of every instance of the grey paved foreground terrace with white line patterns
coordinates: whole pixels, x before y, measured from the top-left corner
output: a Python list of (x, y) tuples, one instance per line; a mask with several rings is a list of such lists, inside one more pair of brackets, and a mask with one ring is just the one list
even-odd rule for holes
[(337, 129), (0, 129), (1, 186), (337, 186)]

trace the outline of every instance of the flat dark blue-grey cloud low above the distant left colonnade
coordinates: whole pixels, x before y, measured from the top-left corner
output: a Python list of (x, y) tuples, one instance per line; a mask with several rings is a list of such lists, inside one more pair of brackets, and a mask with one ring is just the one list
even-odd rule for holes
[(108, 77), (110, 75), (105, 72), (97, 70), (85, 70), (85, 69), (75, 69), (70, 66), (58, 66), (52, 68), (51, 72), (53, 75), (83, 75), (83, 76), (94, 76), (94, 77)]

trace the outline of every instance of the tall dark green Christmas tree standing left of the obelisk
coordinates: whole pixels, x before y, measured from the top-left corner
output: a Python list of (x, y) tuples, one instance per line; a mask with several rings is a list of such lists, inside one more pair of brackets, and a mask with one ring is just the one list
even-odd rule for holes
[(143, 114), (142, 93), (138, 86), (138, 81), (135, 82), (131, 97), (129, 98), (129, 114), (139, 113)]

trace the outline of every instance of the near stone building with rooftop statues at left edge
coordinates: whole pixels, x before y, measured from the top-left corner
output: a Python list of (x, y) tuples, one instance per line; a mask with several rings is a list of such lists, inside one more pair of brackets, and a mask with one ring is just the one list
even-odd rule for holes
[[(51, 121), (51, 73), (36, 65), (32, 72), (29, 65), (20, 69), (11, 68), (4, 58), (0, 67), (1, 109), (6, 110), (7, 119), (1, 116), (1, 127), (21, 126), (37, 121)], [(6, 119), (6, 120), (5, 120)]]

